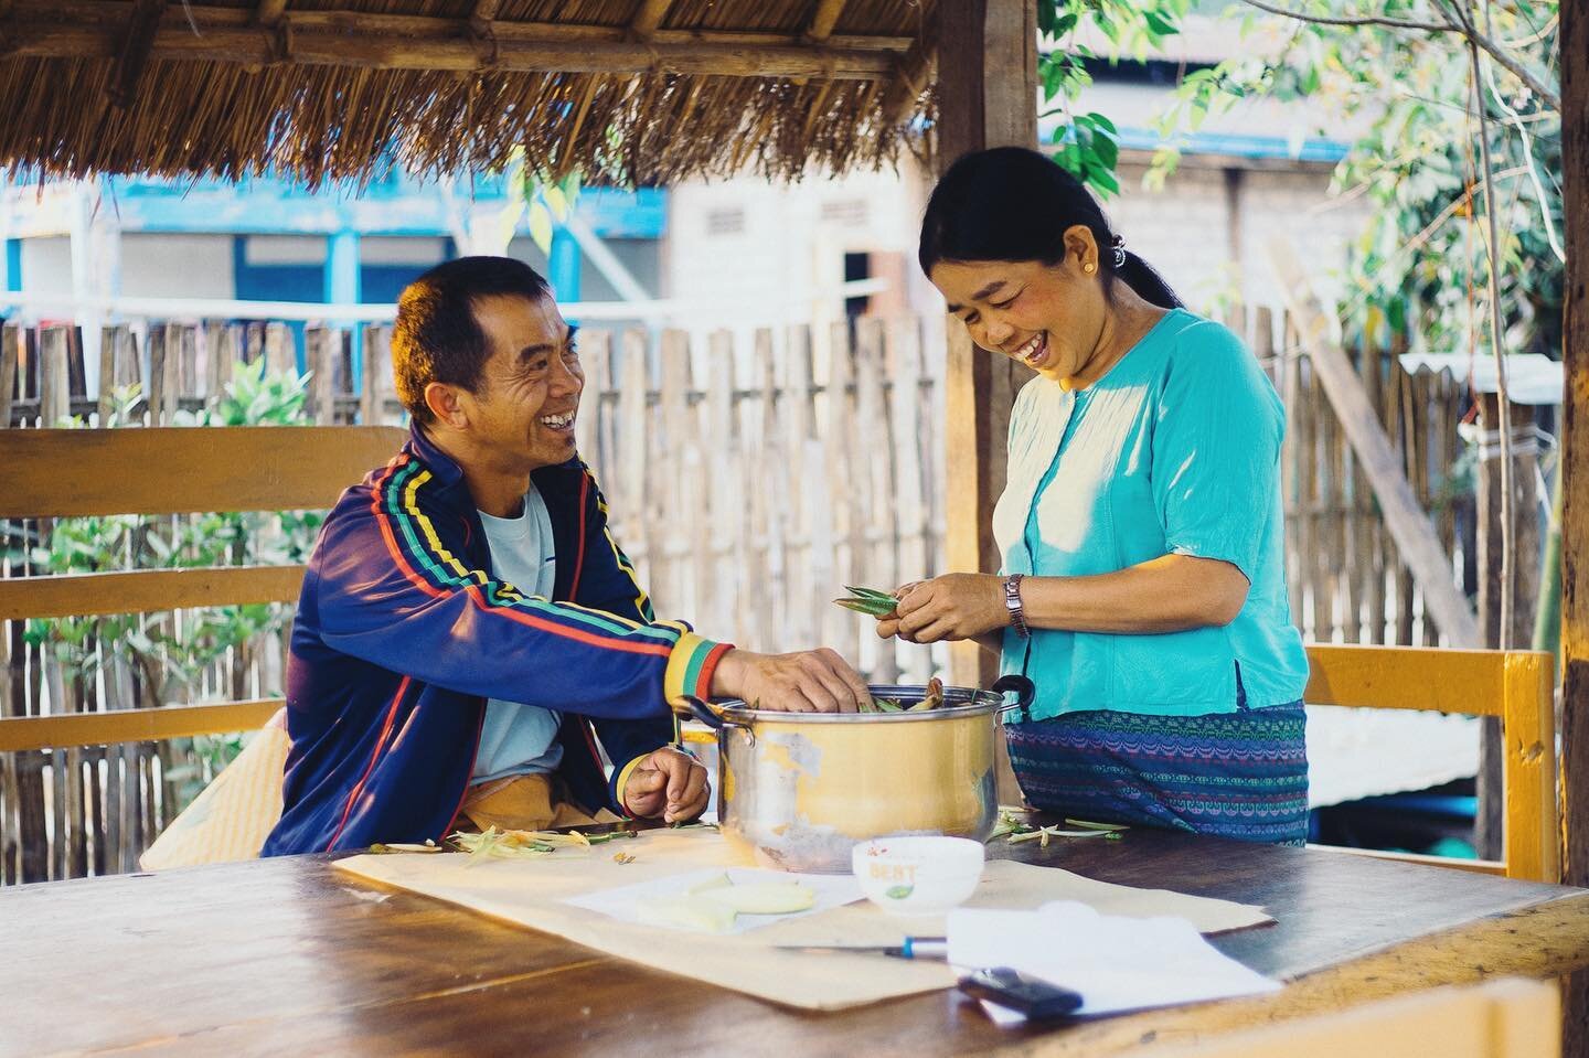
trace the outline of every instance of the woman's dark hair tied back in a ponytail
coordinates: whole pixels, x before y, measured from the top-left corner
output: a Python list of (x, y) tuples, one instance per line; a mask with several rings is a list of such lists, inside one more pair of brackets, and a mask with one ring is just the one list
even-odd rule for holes
[(1065, 232), (1085, 224), (1098, 243), (1104, 294), (1120, 280), (1160, 308), (1181, 299), (1152, 265), (1123, 251), (1115, 264), (1115, 235), (1098, 202), (1079, 180), (1026, 148), (992, 148), (965, 154), (933, 187), (922, 218), (917, 261), (933, 275), (941, 261), (1065, 261)]

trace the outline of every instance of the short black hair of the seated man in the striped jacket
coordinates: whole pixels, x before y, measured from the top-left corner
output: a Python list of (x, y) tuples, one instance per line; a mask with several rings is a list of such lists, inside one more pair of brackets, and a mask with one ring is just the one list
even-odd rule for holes
[(439, 264), (404, 288), (392, 327), (397, 396), (416, 423), (431, 421), (424, 388), (434, 381), (475, 392), (491, 356), (475, 319), (475, 299), (520, 295), (540, 300), (551, 288), (513, 257), (458, 257)]

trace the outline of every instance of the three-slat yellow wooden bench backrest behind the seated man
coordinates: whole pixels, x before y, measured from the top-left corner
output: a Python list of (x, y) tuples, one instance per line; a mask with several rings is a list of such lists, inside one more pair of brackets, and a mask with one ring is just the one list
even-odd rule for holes
[[(0, 431), (0, 518), (318, 510), (396, 454), (385, 426)], [(294, 602), (303, 566), (0, 578), (0, 621)], [(249, 731), (280, 699), (0, 718), (0, 751)]]

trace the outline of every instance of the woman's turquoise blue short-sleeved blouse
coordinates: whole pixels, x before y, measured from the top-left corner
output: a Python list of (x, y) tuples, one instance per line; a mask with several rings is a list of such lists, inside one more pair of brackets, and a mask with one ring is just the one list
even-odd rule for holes
[(1163, 554), (1222, 559), (1251, 588), (1224, 627), (1004, 635), (1004, 672), (1038, 686), (1033, 720), (1092, 709), (1158, 716), (1301, 697), (1308, 658), (1286, 597), (1279, 456), (1286, 413), (1225, 327), (1168, 313), (1082, 391), (1026, 383), (993, 513), (1006, 573), (1087, 577)]

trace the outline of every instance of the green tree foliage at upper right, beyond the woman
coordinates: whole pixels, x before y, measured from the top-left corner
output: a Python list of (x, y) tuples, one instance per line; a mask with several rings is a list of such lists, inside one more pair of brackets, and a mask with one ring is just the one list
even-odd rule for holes
[[(1443, 0), (1340, 3), (1293, 0), (1301, 14), (1357, 16), (1444, 24)], [(1206, 5), (1203, 5), (1206, 6)], [(1556, 81), (1557, 0), (1503, 0), (1462, 8), (1522, 68), (1546, 84)], [(1147, 6), (1115, 0), (1044, 0), (1039, 24), (1058, 41), (1042, 59), (1047, 113), (1069, 114), (1069, 103), (1090, 84), (1085, 59), (1073, 41), (1090, 19), (1112, 43), (1106, 59), (1141, 57), (1160, 44), (1189, 11), (1187, 3), (1155, 0)], [(1278, 51), (1241, 56), (1212, 68), (1187, 71), (1160, 133), (1168, 143), (1225, 114), (1251, 97), (1309, 100), (1328, 127), (1305, 132), (1340, 137), (1360, 129), (1335, 181), (1340, 195), (1363, 197), (1373, 213), (1351, 248), (1343, 318), (1351, 337), (1382, 342), (1389, 329), (1409, 330), (1432, 351), (1476, 351), (1489, 345), (1489, 254), (1483, 214), (1479, 121), (1467, 38), (1387, 25), (1325, 25), (1244, 11), (1243, 33), (1282, 30)], [(1168, 30), (1168, 32), (1166, 32)], [(1484, 57), (1479, 97), (1489, 119), (1500, 245), (1500, 299), (1510, 349), (1560, 354), (1562, 194), (1560, 116), (1511, 71)], [(1055, 102), (1058, 100), (1058, 102)], [(1071, 119), (1061, 130), (1057, 160), (1100, 194), (1111, 194), (1112, 145), (1108, 132)], [(1163, 186), (1179, 153), (1160, 149), (1149, 186)]]

